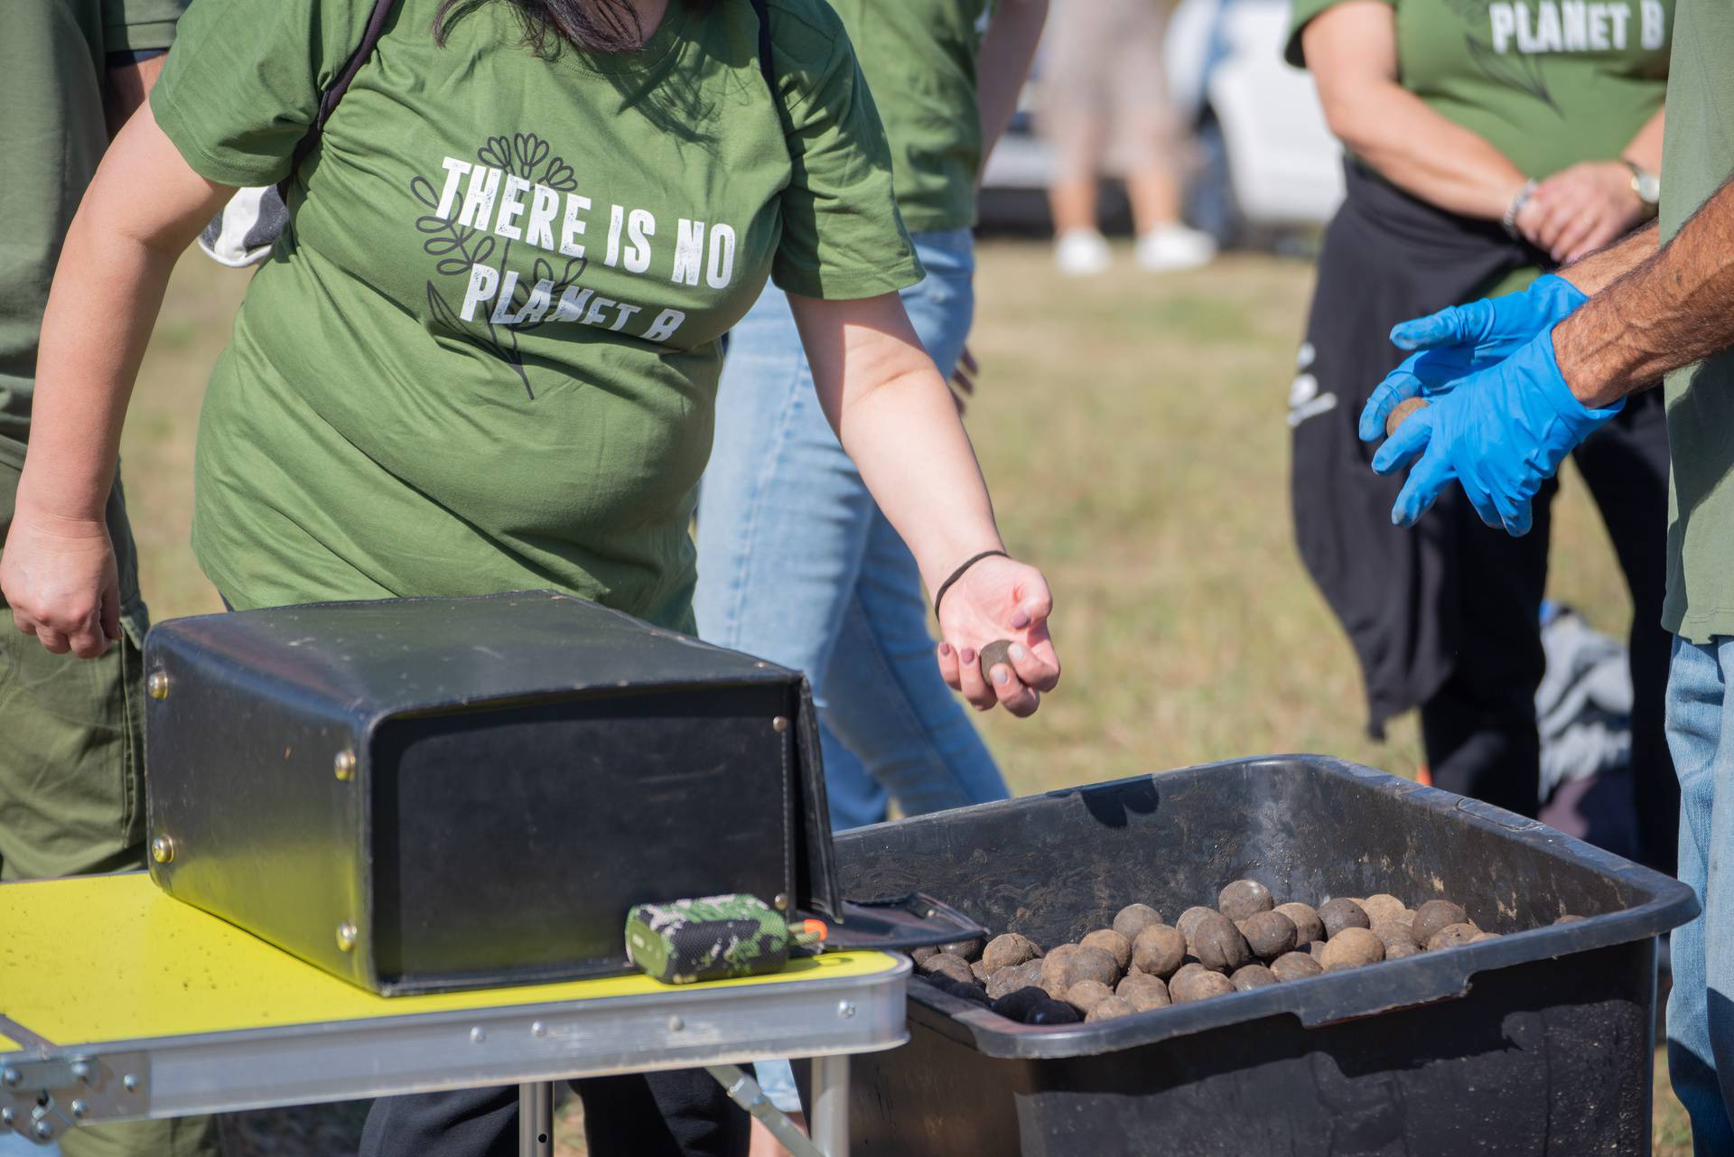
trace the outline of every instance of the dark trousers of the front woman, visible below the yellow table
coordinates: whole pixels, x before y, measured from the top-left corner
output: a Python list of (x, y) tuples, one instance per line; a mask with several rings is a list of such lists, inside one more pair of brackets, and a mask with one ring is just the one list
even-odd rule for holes
[[(572, 1081), (591, 1157), (746, 1157), (747, 1115), (702, 1069)], [(387, 1096), (359, 1157), (517, 1157), (518, 1089)]]

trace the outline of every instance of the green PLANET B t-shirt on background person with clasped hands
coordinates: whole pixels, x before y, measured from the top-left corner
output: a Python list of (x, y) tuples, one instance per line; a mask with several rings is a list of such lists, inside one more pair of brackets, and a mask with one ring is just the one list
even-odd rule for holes
[[(1300, 29), (1339, 0), (1294, 0)], [(1531, 177), (1613, 160), (1661, 108), (1673, 0), (1391, 0), (1398, 80)]]

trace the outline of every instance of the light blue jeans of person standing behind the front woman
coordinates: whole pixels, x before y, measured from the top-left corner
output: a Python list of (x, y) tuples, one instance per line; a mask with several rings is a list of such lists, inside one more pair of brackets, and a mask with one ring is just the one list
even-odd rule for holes
[[(916, 234), (928, 271), (903, 305), (950, 375), (975, 316), (969, 231)], [(766, 286), (728, 338), (699, 498), (699, 637), (805, 671), (831, 824), (1006, 798), (940, 678), (916, 560), (818, 408), (789, 298)]]

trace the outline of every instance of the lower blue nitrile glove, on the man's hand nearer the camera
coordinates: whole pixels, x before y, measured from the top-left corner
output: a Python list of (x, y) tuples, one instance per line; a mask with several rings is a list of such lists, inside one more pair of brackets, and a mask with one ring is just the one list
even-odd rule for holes
[(1470, 373), (1457, 389), (1431, 399), (1398, 427), (1373, 454), (1373, 470), (1391, 474), (1415, 461), (1391, 520), (1415, 520), (1457, 479), (1488, 526), (1529, 533), (1529, 500), (1554, 477), (1578, 442), (1613, 418), (1625, 399), (1585, 409), (1554, 359), (1548, 326), (1516, 354)]

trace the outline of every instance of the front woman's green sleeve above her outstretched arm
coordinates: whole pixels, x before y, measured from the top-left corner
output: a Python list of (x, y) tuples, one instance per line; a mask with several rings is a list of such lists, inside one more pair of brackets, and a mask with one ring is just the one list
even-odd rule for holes
[(891, 147), (843, 21), (824, 0), (773, 0), (772, 29), (794, 167), (773, 279), (827, 300), (916, 284), (922, 271), (891, 193)]

